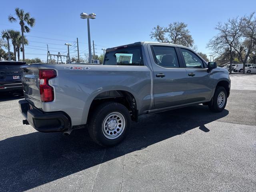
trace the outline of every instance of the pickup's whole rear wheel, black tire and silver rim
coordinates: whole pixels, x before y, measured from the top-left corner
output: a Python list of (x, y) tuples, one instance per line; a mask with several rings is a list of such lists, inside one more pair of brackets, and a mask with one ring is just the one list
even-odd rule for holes
[(128, 109), (117, 102), (106, 102), (93, 112), (89, 122), (89, 134), (97, 144), (114, 146), (127, 136), (131, 126)]

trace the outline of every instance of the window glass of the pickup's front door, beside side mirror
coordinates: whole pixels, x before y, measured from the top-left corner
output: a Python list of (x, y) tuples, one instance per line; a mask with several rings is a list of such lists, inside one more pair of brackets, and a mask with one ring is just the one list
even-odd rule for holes
[(186, 67), (188, 68), (204, 68), (202, 60), (194, 54), (192, 51), (187, 49), (180, 49), (184, 57)]

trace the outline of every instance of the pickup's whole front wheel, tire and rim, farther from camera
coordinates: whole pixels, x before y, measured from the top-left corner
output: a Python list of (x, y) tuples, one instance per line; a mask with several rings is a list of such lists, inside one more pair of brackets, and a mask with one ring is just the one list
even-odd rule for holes
[(216, 87), (212, 101), (208, 106), (213, 112), (222, 112), (227, 104), (227, 92), (224, 87)]

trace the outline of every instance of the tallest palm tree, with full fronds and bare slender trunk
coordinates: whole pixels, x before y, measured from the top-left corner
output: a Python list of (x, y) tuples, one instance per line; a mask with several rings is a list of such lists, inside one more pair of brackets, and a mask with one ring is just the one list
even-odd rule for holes
[(24, 32), (30, 32), (30, 27), (34, 27), (36, 19), (30, 16), (30, 13), (25, 12), (23, 9), (15, 8), (15, 14), (18, 18), (13, 17), (12, 15), (8, 16), (8, 20), (10, 22), (16, 22), (17, 20), (20, 21), (21, 27), (21, 36), (22, 36), (22, 56), (23, 61), (25, 61), (25, 48), (24, 48)]

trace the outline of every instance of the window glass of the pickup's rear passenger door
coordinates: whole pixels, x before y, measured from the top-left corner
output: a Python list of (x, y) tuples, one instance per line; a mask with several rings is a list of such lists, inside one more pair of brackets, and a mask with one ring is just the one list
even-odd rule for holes
[(156, 64), (166, 67), (179, 67), (177, 54), (174, 47), (152, 46)]

